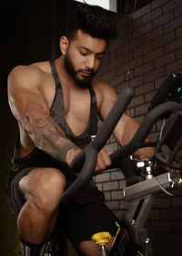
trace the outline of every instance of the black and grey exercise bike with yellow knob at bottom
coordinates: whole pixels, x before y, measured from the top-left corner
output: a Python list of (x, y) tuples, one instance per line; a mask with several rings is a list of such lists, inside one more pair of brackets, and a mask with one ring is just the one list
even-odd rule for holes
[[(167, 77), (167, 81), (176, 79), (175, 76), (177, 77), (178, 74), (170, 74)], [(168, 84), (170, 84), (169, 89), (171, 89), (171, 83), (171, 81), (168, 81)], [(166, 98), (169, 95), (168, 91)], [(77, 191), (84, 187), (93, 176), (96, 155), (106, 144), (108, 137), (115, 128), (120, 116), (126, 111), (126, 106), (133, 95), (134, 91), (131, 88), (121, 91), (116, 104), (96, 134), (94, 141), (88, 144), (79, 155), (76, 155), (72, 162), (72, 167), (75, 170), (81, 169), (81, 171), (76, 181), (62, 195), (61, 204), (67, 204), (72, 200)], [(171, 93), (171, 95), (174, 95), (174, 93)], [(109, 168), (119, 168), (126, 176), (123, 197), (129, 202), (130, 207), (120, 221), (116, 239), (110, 251), (106, 251), (105, 247), (110, 239), (110, 234), (108, 232), (93, 234), (93, 240), (100, 246), (99, 255), (101, 256), (152, 255), (149, 246), (150, 239), (147, 230), (144, 229), (144, 225), (153, 201), (161, 190), (170, 195), (169, 189), (176, 186), (179, 187), (182, 184), (180, 174), (166, 172), (159, 176), (155, 175), (157, 162), (182, 170), (182, 106), (180, 102), (173, 99), (172, 101), (165, 101), (164, 99), (157, 104), (157, 97), (130, 143), (119, 148), (111, 155), (112, 165)], [(161, 97), (159, 99), (161, 100)], [(153, 124), (159, 118), (164, 117), (167, 117), (168, 122), (160, 138), (157, 138), (154, 142), (146, 142), (147, 135), (150, 133)], [(172, 139), (171, 136), (173, 136)], [(155, 146), (153, 159), (145, 161), (131, 159), (131, 155), (137, 149), (147, 146)], [(143, 175), (139, 175), (139, 170), (142, 170)]]

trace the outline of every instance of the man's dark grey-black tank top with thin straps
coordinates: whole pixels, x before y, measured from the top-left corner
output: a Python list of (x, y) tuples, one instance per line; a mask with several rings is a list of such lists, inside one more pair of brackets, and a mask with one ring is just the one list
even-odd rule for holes
[[(56, 71), (55, 60), (51, 60), (50, 65), (56, 84), (56, 93), (51, 105), (50, 114), (54, 118), (56, 123), (58, 123), (58, 125), (61, 127), (61, 129), (66, 133), (66, 137), (68, 137), (78, 147), (84, 148), (86, 144), (89, 144), (89, 142), (91, 142), (92, 135), (95, 135), (97, 132), (97, 104), (95, 91), (92, 89), (91, 86), (88, 87), (91, 97), (89, 122), (87, 124), (86, 130), (79, 136), (76, 136), (65, 120), (63, 91)], [(66, 163), (57, 161), (52, 156), (47, 155), (44, 151), (36, 147), (29, 155), (26, 155), (25, 157), (20, 157), (19, 147), (20, 140), (18, 136), (15, 144), (15, 151), (13, 157), (14, 172), (19, 172), (28, 167), (52, 166), (61, 169), (65, 173), (65, 175), (73, 175), (73, 170), (68, 168), (68, 165), (66, 165)]]

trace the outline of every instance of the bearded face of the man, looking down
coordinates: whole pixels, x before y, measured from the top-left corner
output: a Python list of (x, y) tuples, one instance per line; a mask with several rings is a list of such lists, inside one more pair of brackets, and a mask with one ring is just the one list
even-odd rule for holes
[(71, 40), (66, 51), (65, 67), (81, 88), (86, 88), (99, 69), (106, 51), (104, 39), (91, 37), (81, 30)]

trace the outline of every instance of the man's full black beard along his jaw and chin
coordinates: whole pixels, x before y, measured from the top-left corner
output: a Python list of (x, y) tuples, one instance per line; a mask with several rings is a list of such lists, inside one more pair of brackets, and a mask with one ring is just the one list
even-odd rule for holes
[[(79, 88), (83, 88), (83, 89), (88, 88), (90, 86), (91, 80), (96, 75), (96, 72), (94, 69), (76, 70), (68, 54), (66, 54), (66, 57), (65, 57), (65, 68), (66, 68), (66, 71), (69, 73), (69, 75), (72, 77), (72, 79), (76, 81), (76, 85)], [(83, 76), (83, 79), (79, 79), (77, 76), (79, 72), (88, 72), (89, 75), (86, 77)]]

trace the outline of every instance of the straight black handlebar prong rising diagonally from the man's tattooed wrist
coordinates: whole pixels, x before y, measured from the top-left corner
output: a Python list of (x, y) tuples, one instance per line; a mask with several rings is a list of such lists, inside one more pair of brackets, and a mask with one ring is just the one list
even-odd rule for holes
[[(102, 147), (106, 144), (106, 141), (110, 134), (113, 132), (116, 123), (119, 121), (121, 115), (126, 111), (126, 106), (131, 101), (132, 97), (134, 96), (134, 90), (132, 88), (125, 88), (123, 89), (106, 117), (106, 120), (103, 122), (102, 126), (100, 127), (98, 133), (96, 133), (96, 138), (90, 144), (86, 146), (92, 147), (96, 149), (96, 152), (99, 152)], [(84, 151), (81, 151), (76, 157), (73, 159), (71, 166), (76, 170), (76, 168), (80, 168), (79, 166), (83, 163), (84, 160)]]

